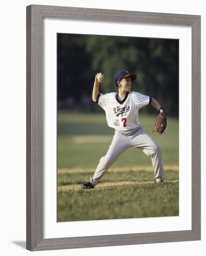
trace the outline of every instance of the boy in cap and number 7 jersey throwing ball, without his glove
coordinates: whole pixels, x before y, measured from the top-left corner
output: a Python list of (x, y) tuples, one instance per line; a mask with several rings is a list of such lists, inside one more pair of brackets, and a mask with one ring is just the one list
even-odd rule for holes
[[(158, 144), (141, 127), (139, 109), (146, 105), (153, 105), (161, 115), (165, 115), (164, 109), (152, 97), (131, 91), (132, 81), (136, 80), (136, 74), (122, 70), (115, 75), (115, 85), (118, 93), (101, 94), (99, 91), (103, 75), (97, 73), (93, 85), (92, 99), (106, 113), (106, 121), (109, 127), (114, 128), (113, 141), (88, 182), (81, 185), (81, 189), (93, 189), (101, 180), (106, 170), (117, 158), (130, 147), (140, 148), (151, 157), (154, 169), (154, 181), (163, 182), (163, 164)], [(159, 135), (161, 135), (159, 133)]]

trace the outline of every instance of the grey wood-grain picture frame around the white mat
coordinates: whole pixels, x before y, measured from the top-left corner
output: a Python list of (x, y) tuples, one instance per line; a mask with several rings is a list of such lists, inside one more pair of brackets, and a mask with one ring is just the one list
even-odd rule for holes
[[(192, 230), (43, 239), (43, 19), (49, 17), (192, 27)], [(37, 251), (193, 241), (200, 240), (200, 234), (200, 16), (28, 6), (27, 249)]]

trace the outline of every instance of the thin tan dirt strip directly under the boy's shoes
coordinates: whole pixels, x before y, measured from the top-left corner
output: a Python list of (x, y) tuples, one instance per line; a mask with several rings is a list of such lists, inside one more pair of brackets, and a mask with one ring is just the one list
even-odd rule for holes
[[(179, 182), (179, 180), (173, 180), (170, 182)], [(166, 182), (165, 182), (166, 183)], [(139, 184), (154, 184), (153, 181), (149, 182), (104, 182), (98, 184), (95, 189), (105, 189), (108, 187), (114, 187), (114, 186), (126, 186), (126, 185), (139, 185)], [(69, 191), (69, 190), (80, 190), (80, 184), (74, 184), (74, 185), (64, 185), (64, 186), (58, 186), (57, 190), (60, 191)], [(87, 189), (88, 190), (88, 189)], [(89, 189), (92, 190), (92, 189)]]

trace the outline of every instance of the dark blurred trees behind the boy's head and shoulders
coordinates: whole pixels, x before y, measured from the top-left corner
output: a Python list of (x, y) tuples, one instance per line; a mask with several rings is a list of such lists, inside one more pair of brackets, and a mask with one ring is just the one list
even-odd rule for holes
[[(137, 74), (132, 91), (159, 101), (179, 116), (179, 40), (105, 35), (58, 34), (58, 109), (102, 112), (91, 95), (95, 74), (104, 73), (100, 92), (117, 91), (115, 74)], [(149, 106), (142, 113), (156, 114)]]

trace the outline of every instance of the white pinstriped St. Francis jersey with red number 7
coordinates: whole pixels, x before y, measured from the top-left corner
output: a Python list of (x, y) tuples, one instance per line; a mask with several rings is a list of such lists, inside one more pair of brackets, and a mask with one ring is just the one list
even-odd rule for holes
[(98, 105), (105, 110), (106, 122), (116, 131), (128, 131), (140, 126), (139, 109), (151, 104), (152, 98), (137, 92), (127, 92), (120, 101), (118, 93), (99, 94)]

